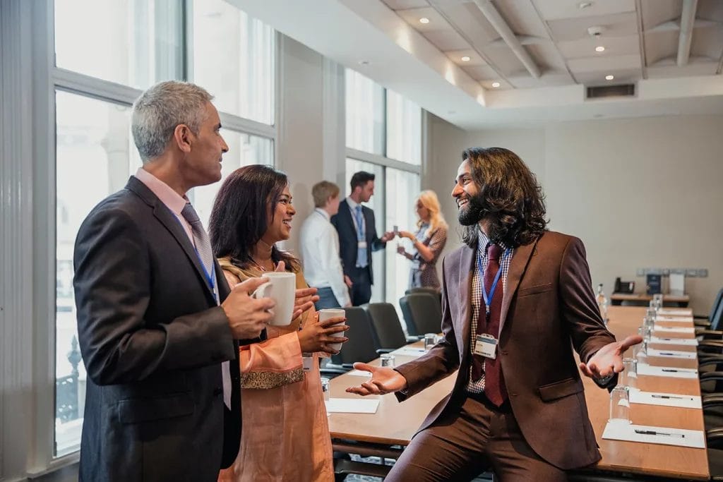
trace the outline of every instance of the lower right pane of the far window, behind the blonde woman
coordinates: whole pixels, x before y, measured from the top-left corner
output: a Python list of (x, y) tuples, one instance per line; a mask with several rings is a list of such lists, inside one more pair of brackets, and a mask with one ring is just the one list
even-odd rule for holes
[[(419, 196), (419, 174), (387, 168), (386, 189), (386, 224), (398, 226), (400, 231), (416, 233), (416, 214), (414, 202)], [(395, 306), (399, 319), (403, 319), (399, 308), (399, 298), (409, 287), (409, 270), (411, 262), (397, 253), (397, 246), (401, 244), (408, 253), (416, 252), (411, 241), (406, 238), (396, 238), (388, 244), (386, 256), (386, 300)], [(406, 330), (406, 325), (403, 325)]]

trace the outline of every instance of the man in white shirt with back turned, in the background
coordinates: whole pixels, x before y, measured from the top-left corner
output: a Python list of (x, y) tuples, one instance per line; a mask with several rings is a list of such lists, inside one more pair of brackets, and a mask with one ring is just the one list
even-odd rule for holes
[(321, 181), (312, 188), (315, 210), (301, 226), (304, 277), (317, 288), (316, 309), (351, 306), (348, 285), (339, 259), (339, 235), (330, 218), (339, 210), (339, 186)]

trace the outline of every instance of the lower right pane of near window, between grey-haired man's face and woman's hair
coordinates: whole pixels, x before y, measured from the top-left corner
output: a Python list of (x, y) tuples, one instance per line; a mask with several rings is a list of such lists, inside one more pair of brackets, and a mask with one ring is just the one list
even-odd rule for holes
[(228, 174), (236, 171), (242, 165), (273, 165), (272, 139), (234, 131), (223, 131), (223, 139), (228, 144), (228, 152), (223, 155), (223, 162), (221, 163), (221, 181), (208, 186), (196, 187), (189, 193), (189, 199), (192, 200), (196, 212), (198, 212), (198, 217), (206, 227), (208, 227), (213, 199)]

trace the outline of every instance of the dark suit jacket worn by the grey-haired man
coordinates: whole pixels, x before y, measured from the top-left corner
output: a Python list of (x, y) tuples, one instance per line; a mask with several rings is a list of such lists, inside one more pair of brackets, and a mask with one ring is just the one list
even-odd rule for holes
[[(238, 344), (181, 223), (132, 177), (82, 223), (74, 267), (88, 375), (80, 480), (215, 481), (239, 450)], [(223, 300), (218, 263), (215, 277)]]

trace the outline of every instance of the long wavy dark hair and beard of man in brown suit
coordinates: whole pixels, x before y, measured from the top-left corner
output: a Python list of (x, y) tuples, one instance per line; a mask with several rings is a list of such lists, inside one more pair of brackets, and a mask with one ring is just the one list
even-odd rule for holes
[[(489, 239), (505, 246), (529, 244), (546, 231), (544, 194), (535, 175), (514, 152), (471, 147), (462, 153), (479, 187), (476, 204), (489, 219)], [(477, 224), (463, 228), (463, 241), (477, 243)]]

